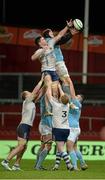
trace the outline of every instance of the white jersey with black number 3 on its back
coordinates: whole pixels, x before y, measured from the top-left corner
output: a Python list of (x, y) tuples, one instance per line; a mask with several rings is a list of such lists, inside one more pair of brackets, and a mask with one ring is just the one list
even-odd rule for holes
[(68, 122), (68, 113), (69, 113), (69, 104), (64, 105), (62, 103), (57, 102), (52, 98), (50, 100), (52, 105), (52, 126), (53, 128), (60, 129), (69, 129)]

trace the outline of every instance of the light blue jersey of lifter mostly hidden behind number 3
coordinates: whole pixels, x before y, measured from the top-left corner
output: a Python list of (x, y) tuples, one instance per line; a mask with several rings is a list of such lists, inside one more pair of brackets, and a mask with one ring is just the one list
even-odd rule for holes
[[(51, 105), (49, 104), (49, 110), (50, 107)], [(45, 110), (45, 97), (43, 96), (40, 100), (41, 124), (52, 128), (52, 116), (45, 116)]]

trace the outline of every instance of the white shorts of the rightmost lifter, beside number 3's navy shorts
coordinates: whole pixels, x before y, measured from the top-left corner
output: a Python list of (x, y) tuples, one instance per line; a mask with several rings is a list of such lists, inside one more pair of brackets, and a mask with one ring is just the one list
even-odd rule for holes
[(78, 140), (80, 133), (80, 128), (70, 128), (70, 134), (67, 139), (75, 143)]

